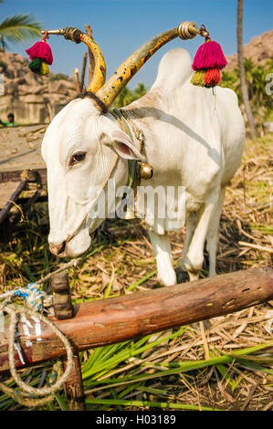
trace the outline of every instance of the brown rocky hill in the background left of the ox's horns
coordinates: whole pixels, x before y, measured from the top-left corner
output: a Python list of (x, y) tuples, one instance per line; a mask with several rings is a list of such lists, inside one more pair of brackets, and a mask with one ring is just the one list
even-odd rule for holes
[(48, 123), (76, 96), (72, 78), (65, 75), (38, 76), (28, 68), (28, 59), (19, 54), (0, 52), (0, 119), (15, 114), (19, 124)]

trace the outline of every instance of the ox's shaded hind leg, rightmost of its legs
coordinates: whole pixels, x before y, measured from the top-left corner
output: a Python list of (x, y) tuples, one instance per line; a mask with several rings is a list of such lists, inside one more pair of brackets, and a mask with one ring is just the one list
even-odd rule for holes
[(221, 189), (218, 205), (213, 215), (206, 235), (206, 250), (209, 258), (209, 277), (216, 275), (216, 252), (219, 238), (219, 223), (224, 204), (226, 188)]

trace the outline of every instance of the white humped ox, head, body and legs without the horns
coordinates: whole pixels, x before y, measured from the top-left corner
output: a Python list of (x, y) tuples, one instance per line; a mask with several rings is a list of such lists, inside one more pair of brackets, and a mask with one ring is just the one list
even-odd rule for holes
[[(179, 220), (181, 226), (186, 223), (186, 238), (178, 267), (191, 280), (202, 268), (205, 242), (209, 275), (215, 275), (226, 185), (236, 173), (245, 140), (236, 94), (230, 89), (216, 88), (213, 93), (194, 87), (192, 72), (187, 51), (167, 52), (152, 89), (123, 108), (143, 132), (147, 160), (154, 169), (152, 179), (142, 184), (185, 188), (185, 220), (183, 216)], [(89, 234), (102, 221), (89, 218), (100, 191), (110, 177), (117, 187), (126, 185), (128, 159), (140, 158), (136, 142), (109, 112), (101, 113), (93, 99), (74, 99), (48, 126), (42, 155), (47, 163), (50, 249), (58, 256), (78, 256), (89, 248)], [(115, 195), (110, 199), (110, 204), (116, 203)], [(147, 225), (158, 279), (173, 285), (169, 219), (149, 218)]]

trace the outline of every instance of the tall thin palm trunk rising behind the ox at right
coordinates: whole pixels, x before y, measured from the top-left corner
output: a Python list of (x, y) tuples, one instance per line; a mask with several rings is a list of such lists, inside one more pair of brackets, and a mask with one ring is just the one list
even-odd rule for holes
[(244, 68), (244, 54), (243, 54), (243, 0), (237, 0), (237, 54), (238, 54), (238, 68), (241, 82), (242, 99), (245, 105), (247, 114), (247, 121), (250, 128), (252, 138), (257, 137), (257, 131), (255, 127), (255, 120), (250, 109), (248, 91), (247, 91), (247, 80)]

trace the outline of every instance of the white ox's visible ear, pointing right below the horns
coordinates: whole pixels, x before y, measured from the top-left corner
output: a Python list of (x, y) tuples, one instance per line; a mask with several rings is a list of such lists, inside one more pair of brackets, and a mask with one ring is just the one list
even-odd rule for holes
[(145, 161), (141, 152), (135, 147), (130, 137), (121, 130), (114, 130), (111, 133), (111, 141), (116, 152), (126, 160), (141, 160)]

